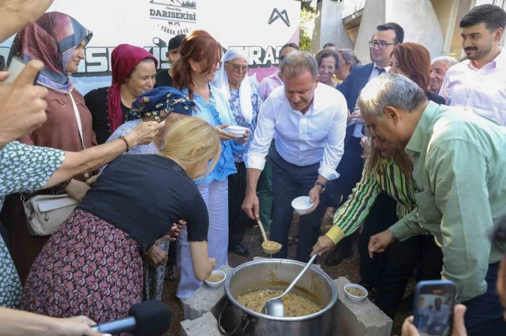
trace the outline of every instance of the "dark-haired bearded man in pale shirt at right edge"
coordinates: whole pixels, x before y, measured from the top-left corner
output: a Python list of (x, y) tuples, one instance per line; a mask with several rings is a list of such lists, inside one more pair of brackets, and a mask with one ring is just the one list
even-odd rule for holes
[(506, 13), (499, 6), (482, 5), (460, 21), (467, 61), (448, 70), (439, 95), (449, 106), (472, 111), (506, 125), (506, 53), (499, 42)]

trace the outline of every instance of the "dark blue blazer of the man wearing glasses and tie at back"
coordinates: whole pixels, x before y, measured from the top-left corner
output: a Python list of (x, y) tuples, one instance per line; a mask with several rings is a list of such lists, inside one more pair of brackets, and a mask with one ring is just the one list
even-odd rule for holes
[[(346, 98), (346, 104), (348, 105), (350, 113), (353, 113), (353, 109), (355, 109), (360, 91), (366, 86), (367, 82), (369, 82), (369, 77), (371, 77), (373, 68), (374, 63), (358, 65), (353, 68), (353, 71), (348, 74), (348, 77), (346, 77), (341, 84), (336, 86), (337, 90)], [(346, 136), (344, 137), (345, 146), (353, 135), (353, 129), (355, 129), (355, 125), (346, 127)]]

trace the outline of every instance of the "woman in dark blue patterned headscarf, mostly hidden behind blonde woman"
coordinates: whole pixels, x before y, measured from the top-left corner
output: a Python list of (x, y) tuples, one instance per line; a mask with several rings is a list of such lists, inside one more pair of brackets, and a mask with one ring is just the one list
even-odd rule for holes
[[(169, 116), (164, 119), (164, 128), (158, 131), (158, 136), (155, 137), (152, 143), (148, 143), (148, 145), (138, 145), (130, 148), (128, 152), (125, 152), (125, 154), (155, 154), (161, 150), (160, 147), (167, 131), (179, 120), (183, 120), (192, 115), (193, 106), (195, 106), (195, 103), (175, 88), (163, 86), (161, 88), (149, 90), (135, 100), (128, 117), (130, 121), (118, 127), (118, 129), (114, 131), (114, 134), (107, 139), (107, 143), (130, 133), (130, 130), (141, 122), (159, 121), (164, 115), (170, 113)], [(102, 170), (103, 169), (105, 168), (102, 168)], [(178, 223), (176, 227), (180, 230), (185, 227), (185, 223)], [(178, 230), (176, 230), (176, 232), (178, 232)], [(162, 300), (166, 263), (161, 263), (161, 261), (165, 259), (167, 262), (169, 241), (161, 241), (155, 244), (153, 253), (156, 253), (160, 258), (157, 260), (154, 260), (154, 258), (144, 260), (143, 301)]]

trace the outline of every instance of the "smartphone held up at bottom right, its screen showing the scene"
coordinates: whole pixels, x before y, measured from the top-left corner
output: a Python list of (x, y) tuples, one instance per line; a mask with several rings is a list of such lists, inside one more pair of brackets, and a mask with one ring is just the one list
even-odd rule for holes
[(418, 282), (413, 313), (421, 336), (450, 336), (457, 288), (449, 280)]

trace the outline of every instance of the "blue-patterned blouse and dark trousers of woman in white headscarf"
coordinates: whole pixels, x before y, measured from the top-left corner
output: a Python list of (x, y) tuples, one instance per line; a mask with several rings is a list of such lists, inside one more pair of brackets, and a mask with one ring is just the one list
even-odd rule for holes
[[(253, 114), (251, 122), (248, 122), (240, 111), (239, 90), (230, 89), (229, 104), (233, 119), (236, 120), (238, 126), (248, 127), (250, 136), (253, 136), (256, 128), (256, 118), (262, 104), (259, 91), (253, 83), (251, 84), (251, 103)], [(240, 208), (246, 196), (246, 166), (243, 162), (243, 155), (243, 152), (233, 153), (237, 173), (229, 176), (229, 246), (241, 243), (247, 227), (254, 225), (254, 222)]]

